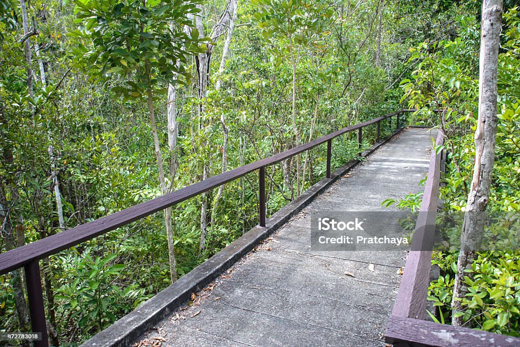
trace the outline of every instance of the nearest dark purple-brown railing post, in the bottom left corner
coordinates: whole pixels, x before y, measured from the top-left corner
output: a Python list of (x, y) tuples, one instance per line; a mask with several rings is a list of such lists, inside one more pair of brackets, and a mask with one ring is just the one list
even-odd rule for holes
[(27, 282), (27, 296), (29, 298), (29, 312), (31, 316), (32, 332), (40, 332), (42, 339), (34, 341), (34, 347), (48, 347), (47, 324), (45, 322), (45, 308), (43, 306), (42, 277), (40, 265), (34, 259), (24, 266), (25, 281)]

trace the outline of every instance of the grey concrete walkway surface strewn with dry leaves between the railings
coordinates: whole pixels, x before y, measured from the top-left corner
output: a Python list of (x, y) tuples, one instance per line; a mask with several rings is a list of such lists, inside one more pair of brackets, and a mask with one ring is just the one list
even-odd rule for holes
[(395, 211), (381, 202), (422, 190), (431, 135), (410, 128), (376, 150), (134, 345), (385, 346), (406, 252), (312, 251), (310, 220), (328, 210)]

